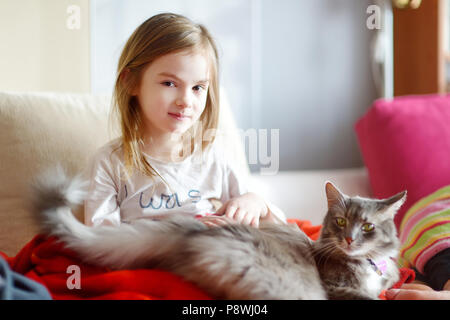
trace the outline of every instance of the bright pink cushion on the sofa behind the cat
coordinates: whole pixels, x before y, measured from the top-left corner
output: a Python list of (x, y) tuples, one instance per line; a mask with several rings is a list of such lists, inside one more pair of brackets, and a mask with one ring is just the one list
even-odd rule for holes
[(374, 196), (408, 191), (395, 217), (450, 184), (450, 95), (377, 100), (355, 125)]

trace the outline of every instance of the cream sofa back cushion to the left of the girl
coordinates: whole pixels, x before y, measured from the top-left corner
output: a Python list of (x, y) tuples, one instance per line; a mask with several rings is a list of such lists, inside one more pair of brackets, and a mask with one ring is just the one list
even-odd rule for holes
[(31, 178), (56, 164), (81, 172), (113, 136), (108, 107), (107, 97), (0, 93), (0, 251), (13, 254), (37, 233), (28, 208)]

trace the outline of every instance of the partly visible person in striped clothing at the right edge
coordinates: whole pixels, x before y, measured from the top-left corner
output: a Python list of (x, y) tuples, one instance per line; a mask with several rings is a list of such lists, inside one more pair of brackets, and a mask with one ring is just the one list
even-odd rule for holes
[(389, 299), (450, 299), (450, 186), (424, 197), (402, 217), (401, 266), (413, 268), (419, 283), (386, 293)]

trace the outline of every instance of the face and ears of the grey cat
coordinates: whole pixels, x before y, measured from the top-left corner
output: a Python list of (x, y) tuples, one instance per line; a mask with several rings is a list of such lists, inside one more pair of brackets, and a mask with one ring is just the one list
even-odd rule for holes
[(394, 215), (406, 192), (389, 199), (349, 197), (331, 183), (326, 185), (328, 213), (323, 222), (321, 241), (350, 257), (376, 258), (394, 254), (398, 247)]

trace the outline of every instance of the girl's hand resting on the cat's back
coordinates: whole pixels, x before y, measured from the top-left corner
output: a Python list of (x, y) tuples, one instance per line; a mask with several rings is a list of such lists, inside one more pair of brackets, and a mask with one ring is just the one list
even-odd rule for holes
[(248, 192), (230, 199), (217, 210), (216, 215), (223, 215), (237, 223), (259, 227), (259, 219), (265, 218), (269, 209), (264, 200), (257, 194)]

